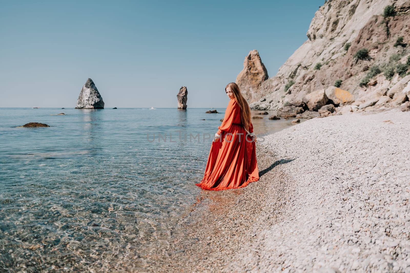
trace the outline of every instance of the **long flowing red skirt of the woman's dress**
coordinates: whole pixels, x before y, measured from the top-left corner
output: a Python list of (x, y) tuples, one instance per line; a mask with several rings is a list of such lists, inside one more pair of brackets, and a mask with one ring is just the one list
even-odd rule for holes
[(246, 131), (239, 124), (232, 124), (229, 131), (223, 131), (221, 139), (212, 142), (205, 175), (195, 185), (204, 190), (228, 190), (259, 180), (256, 145), (250, 136), (248, 141), (245, 137)]

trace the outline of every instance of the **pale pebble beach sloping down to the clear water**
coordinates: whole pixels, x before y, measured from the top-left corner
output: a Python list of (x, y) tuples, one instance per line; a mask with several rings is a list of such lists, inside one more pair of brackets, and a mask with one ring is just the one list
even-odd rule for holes
[[(369, 111), (370, 112), (370, 111)], [(410, 112), (314, 118), (257, 142), (260, 180), (201, 192), (141, 272), (410, 272)]]

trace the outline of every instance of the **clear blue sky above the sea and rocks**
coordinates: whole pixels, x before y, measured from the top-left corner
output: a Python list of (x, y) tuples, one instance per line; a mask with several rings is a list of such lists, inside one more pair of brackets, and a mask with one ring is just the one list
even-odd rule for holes
[(105, 107), (225, 108), (256, 49), (273, 77), (324, 0), (1, 1), (0, 107), (75, 107), (87, 78)]

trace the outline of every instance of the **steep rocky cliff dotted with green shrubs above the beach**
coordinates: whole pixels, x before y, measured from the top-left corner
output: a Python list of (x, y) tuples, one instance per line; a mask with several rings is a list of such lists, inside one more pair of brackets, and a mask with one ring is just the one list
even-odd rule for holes
[[(318, 111), (333, 104), (338, 111), (345, 104), (355, 111), (365, 104), (399, 105), (408, 100), (403, 88), (410, 84), (409, 28), (410, 0), (328, 0), (315, 13), (307, 40), (276, 76), (247, 95), (250, 106)], [(336, 103), (328, 93), (348, 100)]]

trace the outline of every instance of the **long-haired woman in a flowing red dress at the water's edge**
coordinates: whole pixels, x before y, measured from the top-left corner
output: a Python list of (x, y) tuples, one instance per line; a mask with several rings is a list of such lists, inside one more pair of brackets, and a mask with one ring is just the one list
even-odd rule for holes
[(245, 187), (259, 180), (251, 109), (236, 83), (225, 87), (229, 104), (211, 144), (205, 175), (197, 186), (204, 190)]

